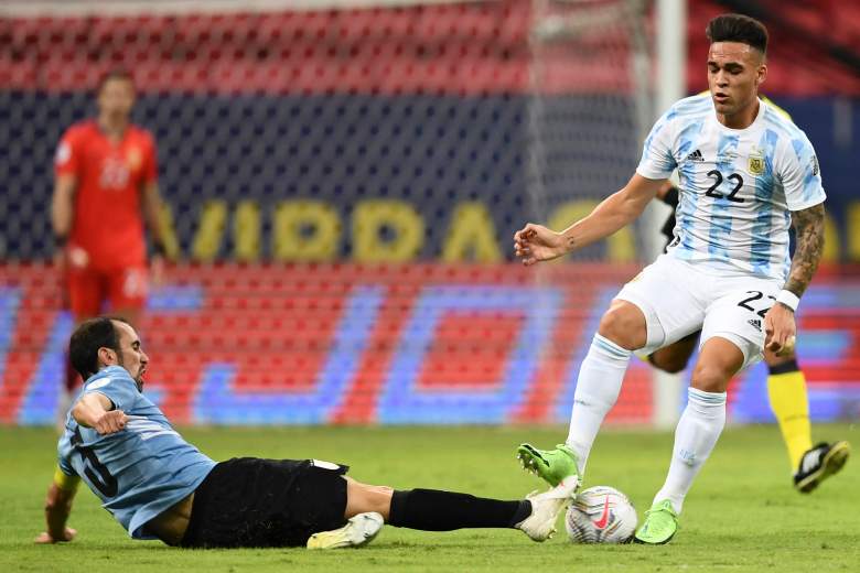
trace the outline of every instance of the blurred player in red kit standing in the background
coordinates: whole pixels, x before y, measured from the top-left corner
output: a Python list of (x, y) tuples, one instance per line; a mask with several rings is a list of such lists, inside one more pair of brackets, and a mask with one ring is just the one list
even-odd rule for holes
[[(155, 142), (129, 120), (135, 83), (128, 72), (104, 76), (96, 96), (98, 116), (69, 127), (56, 150), (55, 264), (76, 323), (97, 316), (107, 303), (137, 324), (149, 281), (144, 227), (152, 234), (155, 283), (163, 271)], [(67, 396), (77, 385), (67, 366)]]

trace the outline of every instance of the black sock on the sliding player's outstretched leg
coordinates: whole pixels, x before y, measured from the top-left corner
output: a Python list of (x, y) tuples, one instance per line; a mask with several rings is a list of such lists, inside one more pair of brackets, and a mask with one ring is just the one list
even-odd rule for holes
[(526, 499), (502, 501), (439, 489), (395, 491), (388, 525), (451, 531), (462, 528), (513, 528), (531, 513)]

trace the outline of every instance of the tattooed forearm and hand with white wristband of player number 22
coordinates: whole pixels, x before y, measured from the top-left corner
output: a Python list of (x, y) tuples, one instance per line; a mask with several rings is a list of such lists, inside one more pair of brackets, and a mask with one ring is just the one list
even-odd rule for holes
[(767, 336), (765, 348), (777, 354), (783, 350), (786, 343), (789, 346), (792, 344), (788, 340), (795, 336), (796, 329), (792, 305), (796, 306), (797, 300), (806, 292), (806, 288), (809, 286), (809, 282), (818, 269), (818, 262), (821, 260), (821, 252), (824, 252), (824, 204), (793, 212), (792, 219), (797, 236), (797, 246), (792, 258), (792, 270), (788, 272), (788, 280), (783, 286), (780, 300), (764, 316), (764, 332)]

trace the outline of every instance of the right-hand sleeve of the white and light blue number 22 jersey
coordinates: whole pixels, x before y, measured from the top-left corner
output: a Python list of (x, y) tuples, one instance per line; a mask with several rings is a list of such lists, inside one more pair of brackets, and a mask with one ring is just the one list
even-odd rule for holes
[(803, 210), (824, 203), (827, 195), (821, 187), (821, 171), (813, 144), (806, 136), (792, 139), (783, 148), (782, 177), (788, 210)]

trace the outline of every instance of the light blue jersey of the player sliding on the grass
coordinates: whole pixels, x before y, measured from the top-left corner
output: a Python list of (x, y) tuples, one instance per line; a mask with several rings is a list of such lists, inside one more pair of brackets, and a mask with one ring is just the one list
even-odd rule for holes
[(185, 442), (137, 388), (125, 368), (92, 376), (82, 396), (107, 396), (129, 420), (117, 433), (99, 435), (66, 417), (57, 444), (60, 468), (78, 475), (135, 539), (154, 539), (146, 523), (194, 491), (215, 462)]

